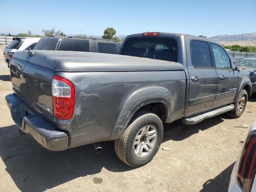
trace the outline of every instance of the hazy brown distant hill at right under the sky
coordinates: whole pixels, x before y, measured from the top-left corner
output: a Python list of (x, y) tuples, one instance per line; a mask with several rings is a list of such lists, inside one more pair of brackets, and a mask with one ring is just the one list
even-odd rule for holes
[[(238, 35), (217, 35), (211, 37), (214, 41), (222, 41), (222, 42), (234, 42), (234, 41), (241, 41), (242, 34)], [(252, 41), (256, 42), (256, 33), (246, 33), (243, 36), (243, 41)]]

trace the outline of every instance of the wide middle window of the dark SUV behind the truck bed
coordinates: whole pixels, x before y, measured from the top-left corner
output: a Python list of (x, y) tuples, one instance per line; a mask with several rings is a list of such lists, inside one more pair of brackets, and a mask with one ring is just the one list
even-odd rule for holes
[(89, 52), (89, 41), (83, 39), (62, 39), (58, 50)]

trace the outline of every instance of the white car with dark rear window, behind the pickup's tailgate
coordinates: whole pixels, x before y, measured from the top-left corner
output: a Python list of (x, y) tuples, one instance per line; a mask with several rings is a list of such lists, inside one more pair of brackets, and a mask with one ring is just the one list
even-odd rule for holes
[(32, 38), (32, 37), (14, 37), (12, 38), (12, 42), (4, 48), (4, 62), (7, 63), (8, 68), (10, 68), (10, 62), (12, 60), (12, 56), (16, 51), (33, 49), (36, 43), (40, 40), (40, 38)]

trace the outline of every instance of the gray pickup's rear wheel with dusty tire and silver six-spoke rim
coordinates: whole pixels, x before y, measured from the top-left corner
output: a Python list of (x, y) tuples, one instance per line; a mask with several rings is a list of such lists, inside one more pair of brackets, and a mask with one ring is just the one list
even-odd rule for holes
[(143, 166), (156, 155), (163, 133), (163, 124), (158, 116), (146, 111), (136, 112), (122, 137), (115, 140), (116, 154), (131, 167)]

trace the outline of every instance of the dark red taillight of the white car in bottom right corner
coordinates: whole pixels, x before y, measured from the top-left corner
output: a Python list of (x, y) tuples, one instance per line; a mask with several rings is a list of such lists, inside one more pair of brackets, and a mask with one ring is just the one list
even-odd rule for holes
[(256, 172), (256, 131), (246, 140), (239, 162), (237, 180), (244, 192), (250, 192)]

